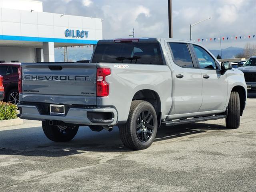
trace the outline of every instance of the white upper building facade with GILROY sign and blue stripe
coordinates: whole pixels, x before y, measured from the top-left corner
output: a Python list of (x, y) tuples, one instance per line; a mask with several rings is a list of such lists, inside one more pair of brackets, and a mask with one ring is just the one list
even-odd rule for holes
[[(76, 30), (89, 31), (88, 38), (66, 37), (66, 29), (74, 30), (74, 32)], [(70, 43), (96, 44), (88, 40), (102, 39), (102, 19), (0, 8), (0, 35), (6, 40), (14, 40), (13, 38), (40, 42), (78, 40), (77, 42), (70, 41)], [(42, 38), (52, 39), (43, 40)]]

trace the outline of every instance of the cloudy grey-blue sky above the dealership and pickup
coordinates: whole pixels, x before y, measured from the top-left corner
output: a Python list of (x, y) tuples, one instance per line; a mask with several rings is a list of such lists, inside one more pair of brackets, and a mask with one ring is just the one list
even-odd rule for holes
[[(42, 1), (44, 12), (102, 18), (104, 39), (127, 38), (133, 28), (135, 37), (168, 38), (168, 0)], [(256, 0), (172, 0), (173, 38), (189, 40), (190, 24), (210, 17), (192, 26), (192, 40), (208, 49), (220, 49), (222, 37), (222, 48), (256, 44)]]

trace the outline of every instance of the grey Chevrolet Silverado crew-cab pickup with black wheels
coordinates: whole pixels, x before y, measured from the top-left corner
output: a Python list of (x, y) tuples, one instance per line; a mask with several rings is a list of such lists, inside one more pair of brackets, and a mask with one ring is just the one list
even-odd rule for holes
[(125, 146), (148, 148), (160, 125), (226, 118), (238, 128), (247, 97), (244, 74), (202, 45), (171, 38), (100, 40), (89, 63), (22, 63), (20, 118), (41, 120), (52, 141), (79, 126), (119, 126)]

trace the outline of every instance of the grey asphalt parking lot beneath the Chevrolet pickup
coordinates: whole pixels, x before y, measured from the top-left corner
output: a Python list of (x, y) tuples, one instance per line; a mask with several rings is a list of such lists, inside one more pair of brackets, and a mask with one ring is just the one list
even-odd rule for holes
[(118, 128), (81, 127), (54, 143), (40, 122), (0, 128), (0, 191), (232, 191), (256, 189), (256, 99), (240, 128), (225, 120), (161, 127), (152, 146), (131, 151)]

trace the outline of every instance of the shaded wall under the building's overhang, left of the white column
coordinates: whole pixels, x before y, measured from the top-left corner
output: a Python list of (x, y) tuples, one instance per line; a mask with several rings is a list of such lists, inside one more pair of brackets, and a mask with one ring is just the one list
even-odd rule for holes
[(36, 49), (30, 47), (0, 47), (1, 58), (5, 62), (36, 62)]

